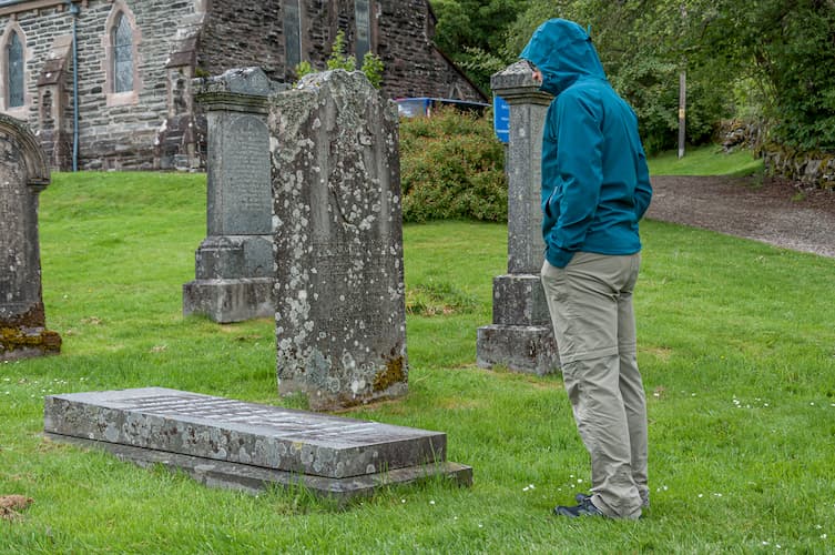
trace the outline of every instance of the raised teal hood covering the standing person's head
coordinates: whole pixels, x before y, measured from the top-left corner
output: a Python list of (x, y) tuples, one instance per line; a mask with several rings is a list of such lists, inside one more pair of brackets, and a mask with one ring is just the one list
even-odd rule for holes
[(550, 19), (539, 26), (519, 58), (537, 65), (542, 72), (540, 89), (553, 95), (583, 75), (605, 80), (589, 33), (573, 21)]

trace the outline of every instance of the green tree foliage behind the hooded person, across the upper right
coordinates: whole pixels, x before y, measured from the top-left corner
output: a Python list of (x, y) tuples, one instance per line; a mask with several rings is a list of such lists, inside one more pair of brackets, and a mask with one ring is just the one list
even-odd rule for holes
[[(589, 26), (612, 85), (638, 113), (650, 151), (676, 142), (682, 71), (690, 142), (710, 140), (724, 118), (753, 115), (776, 143), (835, 151), (833, 0), (437, 0), (434, 6), (439, 43), (479, 83), (516, 60), (542, 21), (561, 17)], [(481, 21), (483, 13), (492, 19)]]

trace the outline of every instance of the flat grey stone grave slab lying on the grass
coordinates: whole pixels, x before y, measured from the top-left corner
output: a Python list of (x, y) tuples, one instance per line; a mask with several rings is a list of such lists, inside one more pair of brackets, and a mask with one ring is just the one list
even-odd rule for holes
[(346, 500), (436, 475), (472, 483), (471, 467), (446, 460), (440, 432), (163, 387), (47, 396), (43, 428), (51, 440), (245, 491), (302, 484)]

